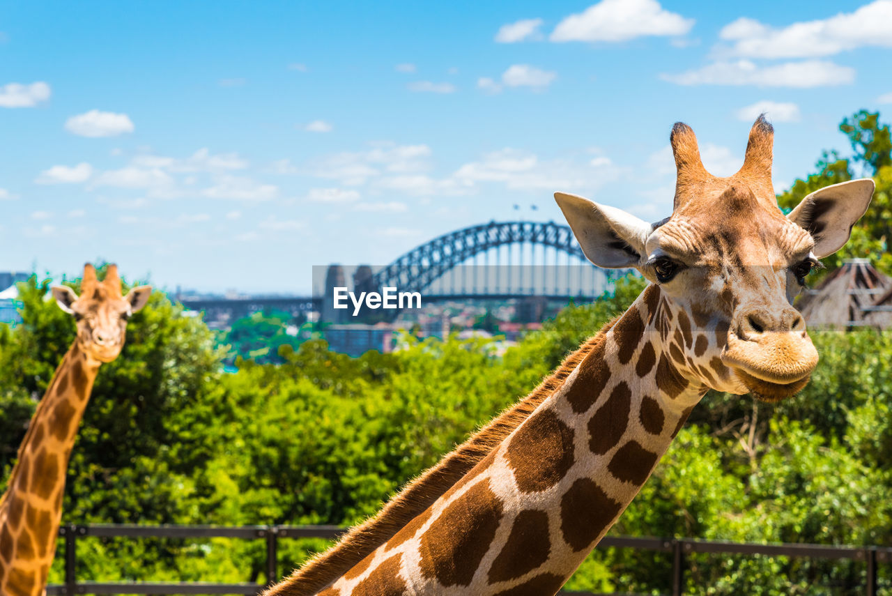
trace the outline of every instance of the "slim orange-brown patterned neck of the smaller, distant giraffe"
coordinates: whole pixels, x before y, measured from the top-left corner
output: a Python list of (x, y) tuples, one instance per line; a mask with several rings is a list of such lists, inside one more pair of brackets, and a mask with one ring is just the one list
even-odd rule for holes
[(98, 371), (99, 364), (73, 344), (37, 404), (0, 498), (0, 594), (44, 592), (68, 459)]

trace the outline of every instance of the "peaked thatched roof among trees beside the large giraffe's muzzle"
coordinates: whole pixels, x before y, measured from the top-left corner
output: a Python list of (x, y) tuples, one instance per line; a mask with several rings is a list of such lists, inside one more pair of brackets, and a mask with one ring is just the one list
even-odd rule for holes
[(878, 298), (888, 295), (892, 306), (892, 277), (873, 269), (867, 259), (849, 259), (820, 286), (808, 290), (797, 304), (808, 327), (890, 327), (892, 308), (880, 317)]

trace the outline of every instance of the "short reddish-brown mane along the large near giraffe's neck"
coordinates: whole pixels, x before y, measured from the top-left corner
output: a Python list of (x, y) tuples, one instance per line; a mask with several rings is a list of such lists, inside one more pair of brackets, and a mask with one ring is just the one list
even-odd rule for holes
[(296, 569), (292, 575), (263, 592), (262, 596), (310, 596), (325, 589), (365, 559), (414, 517), (434, 504), (453, 484), (491, 453), (512, 431), (529, 418), (539, 404), (564, 384), (566, 377), (585, 356), (605, 341), (615, 320), (601, 327), (598, 334), (561, 362), (541, 384), (524, 399), (502, 410), (486, 426), (444, 456), (433, 468), (397, 493), (375, 516), (353, 526), (332, 548), (325, 550)]

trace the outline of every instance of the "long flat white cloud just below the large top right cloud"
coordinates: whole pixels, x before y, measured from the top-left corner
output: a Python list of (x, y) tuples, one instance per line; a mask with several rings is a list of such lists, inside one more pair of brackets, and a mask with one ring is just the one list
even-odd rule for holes
[(855, 80), (855, 69), (833, 62), (784, 62), (757, 66), (748, 60), (714, 62), (681, 74), (661, 74), (676, 85), (752, 85), (756, 87), (828, 87)]

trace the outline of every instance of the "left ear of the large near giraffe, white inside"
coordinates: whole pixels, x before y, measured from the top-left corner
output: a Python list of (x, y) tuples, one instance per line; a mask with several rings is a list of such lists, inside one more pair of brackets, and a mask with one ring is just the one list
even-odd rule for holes
[(555, 201), (589, 261), (607, 269), (640, 266), (650, 224), (577, 195), (555, 193)]

